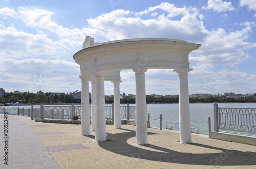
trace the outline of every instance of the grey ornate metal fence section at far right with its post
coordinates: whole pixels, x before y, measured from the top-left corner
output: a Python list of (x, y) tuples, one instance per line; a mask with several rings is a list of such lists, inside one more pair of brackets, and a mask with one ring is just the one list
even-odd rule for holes
[(218, 107), (215, 103), (215, 131), (256, 133), (256, 108)]

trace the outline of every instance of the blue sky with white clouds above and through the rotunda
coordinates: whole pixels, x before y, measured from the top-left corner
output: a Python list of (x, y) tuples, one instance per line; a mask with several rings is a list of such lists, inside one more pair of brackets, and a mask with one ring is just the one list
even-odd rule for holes
[[(95, 42), (172, 38), (202, 44), (189, 55), (189, 94), (256, 93), (255, 0), (0, 0), (0, 87), (6, 92), (81, 90), (73, 54)], [(121, 71), (120, 92), (135, 94)], [(146, 94), (178, 94), (173, 70), (149, 69)], [(105, 94), (114, 93), (105, 82)]]

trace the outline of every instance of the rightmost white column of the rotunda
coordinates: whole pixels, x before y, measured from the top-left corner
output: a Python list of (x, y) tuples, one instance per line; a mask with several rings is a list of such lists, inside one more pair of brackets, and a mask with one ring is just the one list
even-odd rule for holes
[(192, 69), (174, 69), (179, 75), (180, 142), (191, 143), (187, 73)]

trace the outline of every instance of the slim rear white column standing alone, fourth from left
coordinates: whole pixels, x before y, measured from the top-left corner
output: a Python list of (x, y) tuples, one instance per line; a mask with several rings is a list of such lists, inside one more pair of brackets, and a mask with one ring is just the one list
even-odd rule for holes
[(113, 80), (114, 83), (114, 128), (121, 128), (120, 114), (120, 82), (121, 80)]

